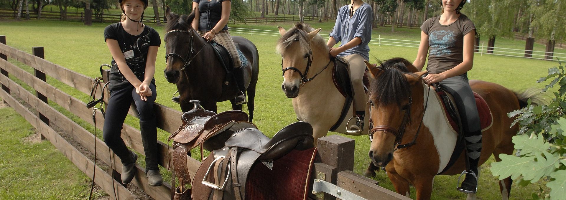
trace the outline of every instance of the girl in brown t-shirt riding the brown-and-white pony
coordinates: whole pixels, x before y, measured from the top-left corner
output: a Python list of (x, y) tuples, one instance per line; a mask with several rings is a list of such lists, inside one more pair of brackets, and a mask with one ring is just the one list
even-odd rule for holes
[[(460, 13), (465, 0), (440, 0), (443, 13), (424, 21), (421, 26), (421, 44), (413, 65), (424, 67), (428, 53), (427, 84), (439, 82), (456, 101), (462, 119), (462, 131), (468, 149), (469, 169), (458, 190), (476, 193), (479, 155), (482, 150), (482, 132), (474, 94), (468, 84), (467, 72), (474, 60), (475, 26)], [(475, 175), (471, 174), (475, 173)]]

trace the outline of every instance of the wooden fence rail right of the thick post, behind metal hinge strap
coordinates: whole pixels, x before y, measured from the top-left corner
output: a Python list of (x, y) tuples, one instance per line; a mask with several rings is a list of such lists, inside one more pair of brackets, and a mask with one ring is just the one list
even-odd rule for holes
[(378, 181), (369, 179), (353, 171), (338, 172), (336, 185), (368, 200), (411, 200), (411, 198), (379, 186)]

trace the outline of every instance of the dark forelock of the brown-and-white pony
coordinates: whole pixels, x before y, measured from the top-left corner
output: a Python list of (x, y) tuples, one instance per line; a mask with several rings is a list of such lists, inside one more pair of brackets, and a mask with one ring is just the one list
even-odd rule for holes
[(381, 74), (370, 84), (370, 92), (375, 94), (376, 103), (387, 106), (401, 103), (410, 97), (409, 82), (405, 74), (415, 68), (404, 58), (392, 58), (379, 61)]

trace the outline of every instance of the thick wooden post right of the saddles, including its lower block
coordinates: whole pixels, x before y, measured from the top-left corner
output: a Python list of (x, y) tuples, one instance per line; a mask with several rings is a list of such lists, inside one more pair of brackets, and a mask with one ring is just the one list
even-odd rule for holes
[[(318, 157), (315, 163), (314, 179), (337, 184), (338, 172), (354, 171), (354, 140), (332, 135), (318, 140)], [(311, 195), (314, 198), (314, 195)], [(330, 194), (316, 195), (318, 199), (336, 199)]]

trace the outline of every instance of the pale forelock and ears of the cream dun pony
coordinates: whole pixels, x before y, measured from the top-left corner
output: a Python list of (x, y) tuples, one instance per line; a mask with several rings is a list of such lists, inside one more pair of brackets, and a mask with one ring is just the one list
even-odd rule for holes
[[(310, 27), (308, 24), (298, 23), (289, 31), (287, 31), (279, 40), (277, 41), (277, 46), (275, 50), (277, 53), (281, 54), (284, 52), (289, 46), (293, 44), (293, 42), (299, 42), (299, 48), (301, 49), (302, 53), (308, 53), (311, 50), (311, 43), (310, 38), (308, 38), (308, 34), (315, 29)], [(314, 46), (324, 47), (326, 51), (328, 51), (328, 47), (326, 46), (324, 39), (320, 37), (320, 35), (315, 36), (312, 38), (312, 42)]]

